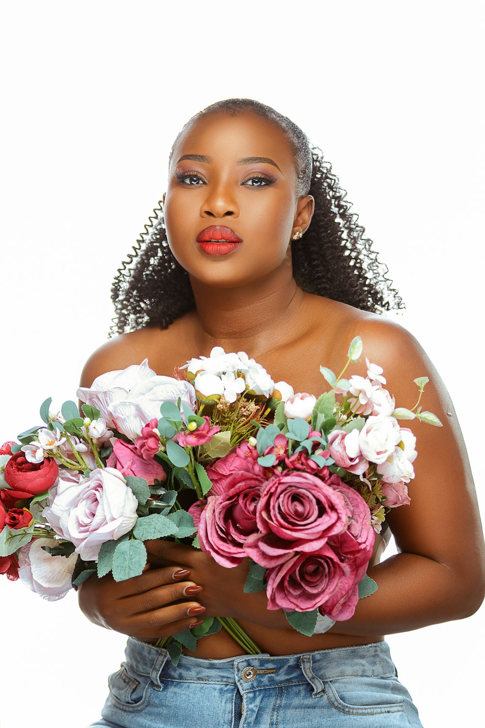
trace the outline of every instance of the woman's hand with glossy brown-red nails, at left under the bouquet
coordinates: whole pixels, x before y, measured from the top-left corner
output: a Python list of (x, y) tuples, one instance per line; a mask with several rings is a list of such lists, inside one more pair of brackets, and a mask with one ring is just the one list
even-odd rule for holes
[(79, 606), (95, 625), (155, 643), (196, 626), (206, 611), (190, 601), (202, 590), (186, 580), (190, 575), (178, 566), (145, 568), (140, 576), (122, 582), (115, 582), (111, 574), (101, 579), (93, 574), (79, 587)]

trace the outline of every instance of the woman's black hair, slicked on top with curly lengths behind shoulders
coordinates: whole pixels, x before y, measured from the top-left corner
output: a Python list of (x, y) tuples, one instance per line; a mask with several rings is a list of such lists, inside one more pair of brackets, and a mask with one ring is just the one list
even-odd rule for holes
[[(324, 161), (321, 150), (310, 146), (307, 136), (287, 116), (270, 106), (246, 98), (232, 98), (207, 106), (185, 124), (172, 146), (187, 127), (203, 114), (224, 110), (236, 116), (250, 111), (281, 129), (294, 151), (297, 194), (311, 194), (315, 211), (302, 240), (292, 242), (293, 274), (297, 285), (308, 293), (326, 296), (364, 311), (381, 313), (404, 309), (404, 303), (364, 237), (358, 215), (350, 213), (351, 202)], [(119, 268), (111, 288), (116, 316), (113, 333), (143, 326), (167, 326), (193, 309), (195, 301), (188, 273), (175, 260), (167, 242), (161, 202), (153, 210), (133, 253)]]

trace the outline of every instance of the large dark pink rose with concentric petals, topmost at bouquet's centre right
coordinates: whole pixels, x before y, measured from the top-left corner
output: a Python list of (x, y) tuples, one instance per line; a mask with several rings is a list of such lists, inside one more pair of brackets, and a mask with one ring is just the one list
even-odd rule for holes
[(345, 531), (348, 510), (332, 475), (327, 483), (315, 475), (286, 470), (265, 485), (257, 507), (257, 526), (289, 542), (288, 551), (315, 552), (326, 540)]

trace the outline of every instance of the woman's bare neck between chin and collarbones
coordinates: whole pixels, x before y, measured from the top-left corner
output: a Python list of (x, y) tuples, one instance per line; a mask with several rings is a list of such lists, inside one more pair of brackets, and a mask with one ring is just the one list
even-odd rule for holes
[[(273, 346), (283, 341), (305, 296), (291, 266), (238, 288), (215, 288), (192, 277), (191, 285), (196, 301), (196, 341), (204, 355), (220, 346), (254, 356), (268, 343)], [(284, 325), (278, 326), (280, 320)]]

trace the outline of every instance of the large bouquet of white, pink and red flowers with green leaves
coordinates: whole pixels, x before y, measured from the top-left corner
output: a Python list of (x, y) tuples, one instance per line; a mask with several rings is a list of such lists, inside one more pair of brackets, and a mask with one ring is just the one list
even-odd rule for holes
[[(398, 419), (441, 425), (419, 406), (425, 376), (412, 409), (367, 359), (365, 378), (345, 379), (361, 352), (357, 336), (339, 376), (320, 368), (319, 397), (215, 347), (173, 378), (147, 360), (97, 377), (78, 389), (84, 416), (46, 400), (44, 426), (0, 449), (0, 573), (55, 600), (92, 574), (141, 574), (143, 542), (172, 538), (227, 568), (249, 558), (244, 591), (265, 590), (302, 634), (318, 613), (347, 620), (377, 588), (366, 569), (386, 512), (409, 503), (416, 440)], [(159, 644), (176, 662), (221, 625), (260, 652), (227, 617)]]

